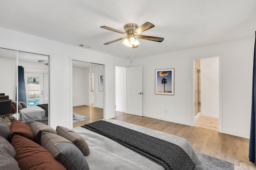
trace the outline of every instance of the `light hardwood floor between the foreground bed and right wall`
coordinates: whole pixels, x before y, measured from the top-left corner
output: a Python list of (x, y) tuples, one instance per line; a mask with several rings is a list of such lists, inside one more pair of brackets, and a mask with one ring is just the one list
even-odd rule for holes
[(256, 166), (248, 159), (249, 139), (247, 138), (223, 134), (217, 130), (129, 114), (113, 119), (186, 138), (196, 152), (232, 162), (234, 170), (256, 169)]

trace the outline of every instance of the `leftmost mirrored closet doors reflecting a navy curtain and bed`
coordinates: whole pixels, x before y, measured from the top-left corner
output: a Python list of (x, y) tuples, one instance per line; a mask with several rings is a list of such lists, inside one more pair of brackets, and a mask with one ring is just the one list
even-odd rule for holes
[(15, 119), (48, 124), (48, 57), (0, 48), (0, 93), (11, 100)]

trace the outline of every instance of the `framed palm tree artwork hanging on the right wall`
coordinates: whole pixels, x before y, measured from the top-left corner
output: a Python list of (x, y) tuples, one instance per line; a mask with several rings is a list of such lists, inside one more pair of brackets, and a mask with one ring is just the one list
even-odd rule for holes
[(174, 95), (174, 69), (155, 70), (155, 94)]

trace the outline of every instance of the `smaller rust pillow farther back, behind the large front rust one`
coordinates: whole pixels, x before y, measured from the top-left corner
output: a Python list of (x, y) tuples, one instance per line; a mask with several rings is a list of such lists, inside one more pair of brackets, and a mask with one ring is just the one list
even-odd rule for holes
[(10, 126), (10, 133), (9, 133), (10, 140), (12, 140), (12, 136), (14, 134), (18, 134), (32, 141), (35, 141), (35, 137), (32, 132), (32, 129), (26, 123), (23, 123), (22, 121), (18, 121), (16, 119), (12, 120), (12, 123)]

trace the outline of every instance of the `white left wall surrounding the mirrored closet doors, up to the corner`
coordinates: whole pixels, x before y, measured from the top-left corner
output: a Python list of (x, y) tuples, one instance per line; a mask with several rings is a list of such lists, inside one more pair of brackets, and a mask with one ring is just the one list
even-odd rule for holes
[(72, 126), (72, 113), (70, 113), (72, 106), (72, 93), (70, 93), (71, 59), (105, 65), (106, 119), (114, 117), (114, 65), (127, 67), (128, 60), (5, 28), (0, 28), (0, 37), (0, 47), (50, 55), (49, 117), (51, 127), (71, 128)]

